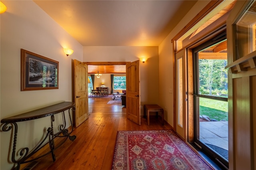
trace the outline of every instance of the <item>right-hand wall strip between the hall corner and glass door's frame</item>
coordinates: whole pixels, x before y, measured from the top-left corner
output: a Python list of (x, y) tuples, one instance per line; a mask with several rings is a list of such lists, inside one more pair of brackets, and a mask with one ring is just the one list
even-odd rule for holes
[(173, 120), (173, 97), (176, 91), (172, 94), (169, 93), (169, 89), (173, 89), (173, 49), (172, 38), (182, 30), (190, 22), (198, 12), (200, 12), (210, 0), (200, 0), (190, 9), (190, 11), (182, 18), (177, 26), (170, 32), (165, 40), (159, 45), (159, 104), (164, 108), (164, 119), (170, 124), (174, 125)]

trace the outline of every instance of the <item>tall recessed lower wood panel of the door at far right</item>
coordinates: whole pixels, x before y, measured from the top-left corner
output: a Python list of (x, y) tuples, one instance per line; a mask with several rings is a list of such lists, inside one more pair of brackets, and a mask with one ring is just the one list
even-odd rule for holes
[[(237, 169), (251, 169), (250, 158), (251, 153), (251, 115), (250, 115), (250, 77), (241, 77), (233, 79), (233, 97), (237, 100), (234, 104), (234, 147), (236, 160), (243, 164), (236, 164)], [(239, 89), (239, 90), (238, 90)], [(245, 164), (244, 164), (245, 163)]]

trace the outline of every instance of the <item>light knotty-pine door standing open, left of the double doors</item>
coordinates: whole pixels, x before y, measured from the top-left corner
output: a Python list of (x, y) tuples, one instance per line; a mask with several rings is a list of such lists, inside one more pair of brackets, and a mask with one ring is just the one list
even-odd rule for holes
[(88, 119), (88, 65), (74, 60), (75, 126)]

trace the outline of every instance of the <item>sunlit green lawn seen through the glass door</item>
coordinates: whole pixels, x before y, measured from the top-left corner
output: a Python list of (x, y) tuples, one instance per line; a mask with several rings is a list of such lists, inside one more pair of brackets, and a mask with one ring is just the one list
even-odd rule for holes
[(228, 102), (206, 99), (200, 97), (200, 115), (206, 115), (210, 119), (228, 121)]

